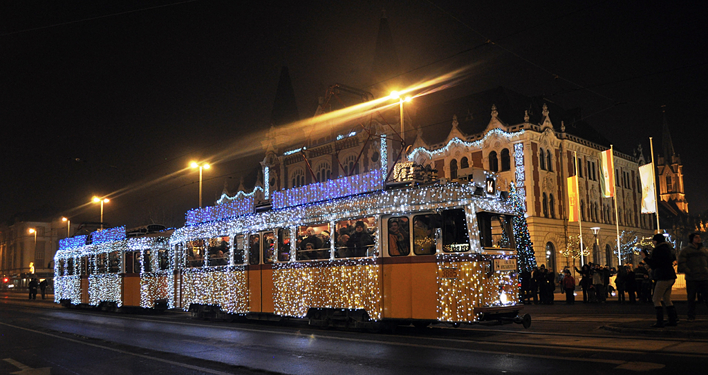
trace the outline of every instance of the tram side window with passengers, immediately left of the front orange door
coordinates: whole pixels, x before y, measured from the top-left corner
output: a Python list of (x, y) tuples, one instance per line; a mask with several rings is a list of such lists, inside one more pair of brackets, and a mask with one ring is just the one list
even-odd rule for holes
[(376, 218), (341, 220), (335, 223), (334, 258), (374, 256)]

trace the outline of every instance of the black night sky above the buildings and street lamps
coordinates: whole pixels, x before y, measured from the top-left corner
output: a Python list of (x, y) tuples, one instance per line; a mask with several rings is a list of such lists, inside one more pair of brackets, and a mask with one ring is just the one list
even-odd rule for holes
[[(198, 173), (176, 172), (267, 128), (282, 66), (303, 117), (332, 83), (372, 83), (382, 8), (409, 81), (474, 66), (442, 96), (497, 86), (545, 96), (582, 107), (617, 148), (641, 143), (647, 156), (648, 137), (661, 148), (666, 104), (690, 212), (708, 209), (699, 1), (251, 3), (4, 1), (0, 220), (98, 221), (87, 203), (108, 195), (112, 226), (181, 225), (198, 204)], [(215, 164), (205, 202), (224, 180), (234, 191), (258, 158)]]

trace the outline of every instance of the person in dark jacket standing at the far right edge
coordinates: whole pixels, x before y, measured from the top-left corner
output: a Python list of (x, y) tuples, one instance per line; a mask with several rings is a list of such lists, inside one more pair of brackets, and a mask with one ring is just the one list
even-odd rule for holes
[[(700, 234), (688, 235), (689, 245), (681, 249), (678, 255), (678, 272), (683, 272), (686, 278), (686, 294), (688, 305), (688, 320), (696, 318), (696, 294), (708, 296), (708, 250), (703, 247)], [(703, 298), (706, 306), (708, 300)]]

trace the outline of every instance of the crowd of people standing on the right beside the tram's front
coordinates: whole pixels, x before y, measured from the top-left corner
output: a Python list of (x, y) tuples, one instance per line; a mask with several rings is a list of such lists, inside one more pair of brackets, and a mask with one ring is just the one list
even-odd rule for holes
[[(636, 267), (631, 263), (619, 267), (586, 263), (581, 268), (573, 267), (579, 281), (573, 277), (570, 267), (564, 267), (559, 275), (545, 265), (520, 272), (520, 294), (524, 304), (553, 304), (556, 287), (566, 294), (566, 304), (575, 303), (576, 289), (583, 293), (583, 303), (604, 303), (616, 296), (619, 304), (639, 302), (653, 304), (656, 311), (655, 328), (678, 324), (678, 314), (671, 301), (671, 291), (678, 272), (686, 280), (687, 320), (696, 316), (696, 300), (708, 307), (708, 250), (704, 248), (699, 233), (691, 233), (689, 245), (675, 250), (659, 233), (652, 237), (653, 248), (644, 248), (644, 260)], [(610, 280), (615, 277), (613, 282)], [(668, 321), (664, 320), (664, 311)]]

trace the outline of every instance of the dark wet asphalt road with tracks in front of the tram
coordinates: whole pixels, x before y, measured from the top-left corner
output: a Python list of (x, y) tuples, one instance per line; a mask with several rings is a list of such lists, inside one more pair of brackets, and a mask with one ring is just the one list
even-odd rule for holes
[[(651, 313), (651, 306), (632, 308)], [(5, 298), (0, 359), (8, 360), (0, 361), (0, 374), (23, 368), (27, 375), (666, 374), (695, 372), (708, 359), (708, 340), (603, 328), (612, 322), (648, 325), (646, 313), (577, 305), (528, 310), (535, 318), (529, 330), (436, 326), (373, 334), (302, 323), (195, 321), (185, 313), (104, 313)]]

